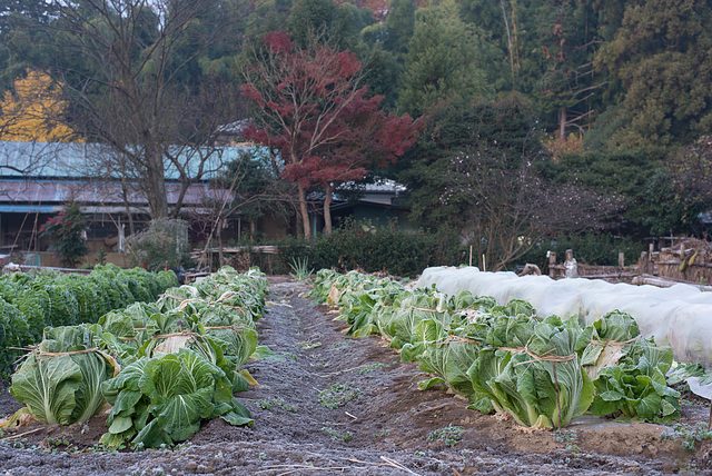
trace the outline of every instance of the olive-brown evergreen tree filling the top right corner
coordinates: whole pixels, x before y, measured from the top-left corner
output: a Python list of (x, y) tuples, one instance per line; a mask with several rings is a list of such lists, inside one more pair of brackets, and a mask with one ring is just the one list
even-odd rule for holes
[(621, 28), (596, 58), (625, 91), (620, 110), (625, 126), (613, 135), (610, 147), (650, 151), (709, 132), (711, 22), (708, 1), (626, 2)]

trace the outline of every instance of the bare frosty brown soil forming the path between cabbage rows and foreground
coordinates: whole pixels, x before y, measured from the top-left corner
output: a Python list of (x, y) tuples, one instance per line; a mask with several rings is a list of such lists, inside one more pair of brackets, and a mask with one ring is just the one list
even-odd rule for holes
[[(583, 416), (563, 433), (532, 433), (442, 388), (419, 391), (429, 375), (417, 364), (377, 337), (350, 339), (306, 286), (271, 281), (260, 341), (279, 358), (249, 363), (259, 386), (237, 395), (254, 426), (215, 419), (176, 448), (111, 453), (97, 445), (106, 411), (70, 427), (29, 424), (0, 436), (0, 476), (712, 474), (712, 440), (683, 450), (680, 439), (661, 439), (671, 427)], [(19, 408), (8, 385), (0, 416)], [(335, 388), (348, 395), (325, 400)], [(683, 403), (683, 424), (706, 422), (704, 400), (686, 394)], [(451, 425), (461, 439), (441, 438)]]

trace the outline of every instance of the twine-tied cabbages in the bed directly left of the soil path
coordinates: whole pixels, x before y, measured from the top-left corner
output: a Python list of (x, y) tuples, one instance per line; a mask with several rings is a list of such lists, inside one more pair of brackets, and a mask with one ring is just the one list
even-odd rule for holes
[(256, 320), (267, 279), (221, 268), (195, 286), (166, 290), (103, 315), (98, 324), (47, 328), (12, 376), (10, 393), (48, 424), (86, 422), (112, 406), (101, 443), (134, 448), (182, 442), (205, 419), (251, 424), (234, 393), (258, 348)]

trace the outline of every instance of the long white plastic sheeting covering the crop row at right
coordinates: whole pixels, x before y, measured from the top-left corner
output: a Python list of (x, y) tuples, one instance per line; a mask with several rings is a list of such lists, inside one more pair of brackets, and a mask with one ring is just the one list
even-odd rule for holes
[(596, 279), (554, 280), (548, 276), (483, 272), (475, 267), (427, 268), (417, 287), (436, 285), (448, 295), (457, 289), (492, 296), (497, 303), (531, 303), (540, 316), (578, 315), (592, 323), (619, 309), (630, 314), (644, 337), (672, 346), (675, 359), (702, 363), (712, 369), (712, 292), (689, 285), (670, 288), (611, 284)]

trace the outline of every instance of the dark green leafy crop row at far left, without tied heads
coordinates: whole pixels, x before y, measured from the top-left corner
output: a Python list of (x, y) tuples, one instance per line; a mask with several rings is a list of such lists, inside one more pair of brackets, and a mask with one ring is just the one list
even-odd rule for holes
[(46, 327), (96, 323), (112, 309), (155, 301), (177, 285), (172, 271), (148, 272), (115, 265), (98, 265), (88, 276), (0, 276), (0, 377), (12, 374), (20, 349), (39, 341)]

